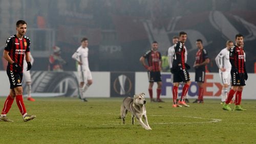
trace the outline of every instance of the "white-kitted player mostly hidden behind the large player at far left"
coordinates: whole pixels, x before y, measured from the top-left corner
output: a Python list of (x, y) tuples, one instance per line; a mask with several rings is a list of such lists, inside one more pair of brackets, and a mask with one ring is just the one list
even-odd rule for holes
[[(32, 55), (30, 54), (30, 62), (31, 62), (31, 65), (33, 65), (33, 62), (34, 62), (34, 58), (32, 57)], [(30, 70), (27, 70), (28, 68), (28, 64), (26, 62), (26, 56), (24, 57), (24, 62), (23, 62), (23, 78), (24, 80), (26, 81), (26, 85), (27, 85), (27, 94), (28, 94), (28, 98), (27, 100), (31, 101), (31, 102), (34, 102), (35, 99), (33, 99), (31, 97), (31, 74), (30, 74)]]

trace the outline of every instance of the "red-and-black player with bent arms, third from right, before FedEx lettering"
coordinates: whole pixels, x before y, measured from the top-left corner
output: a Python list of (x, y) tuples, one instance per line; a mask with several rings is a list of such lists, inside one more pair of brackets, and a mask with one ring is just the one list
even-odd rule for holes
[(196, 70), (195, 81), (198, 84), (199, 91), (198, 91), (198, 99), (193, 103), (203, 103), (205, 66), (210, 62), (210, 59), (208, 57), (206, 50), (203, 47), (203, 41), (201, 39), (198, 39), (196, 41), (196, 44), (197, 44), (198, 51), (196, 54), (196, 60), (193, 67)]

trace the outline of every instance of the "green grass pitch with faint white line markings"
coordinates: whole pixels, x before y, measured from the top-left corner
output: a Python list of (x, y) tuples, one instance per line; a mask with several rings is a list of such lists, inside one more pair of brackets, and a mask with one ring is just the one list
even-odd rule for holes
[[(222, 110), (220, 100), (205, 100), (189, 108), (172, 108), (172, 101), (150, 103), (144, 130), (131, 113), (126, 124), (119, 118), (123, 99), (36, 98), (25, 101), (29, 114), (37, 117), (24, 123), (14, 102), (8, 117), (13, 123), (0, 122), (5, 143), (255, 143), (256, 101), (243, 100), (247, 111)], [(5, 98), (0, 98), (1, 108)], [(234, 105), (231, 104), (233, 109)]]

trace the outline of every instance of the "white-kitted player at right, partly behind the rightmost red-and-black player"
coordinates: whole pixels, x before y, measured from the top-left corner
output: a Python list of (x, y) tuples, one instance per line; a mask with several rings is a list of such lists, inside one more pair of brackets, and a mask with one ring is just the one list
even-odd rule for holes
[(222, 90), (221, 90), (221, 104), (225, 103), (227, 98), (228, 86), (230, 85), (230, 71), (231, 64), (229, 62), (229, 50), (233, 46), (233, 42), (228, 40), (226, 42), (226, 47), (221, 50), (221, 52), (215, 58), (216, 64), (219, 67), (219, 74), (222, 82)]

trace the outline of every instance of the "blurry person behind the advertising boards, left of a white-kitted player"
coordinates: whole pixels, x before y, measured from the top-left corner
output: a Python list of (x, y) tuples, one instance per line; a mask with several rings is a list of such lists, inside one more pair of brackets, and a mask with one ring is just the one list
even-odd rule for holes
[(63, 71), (63, 66), (66, 61), (60, 56), (61, 50), (58, 46), (53, 46), (53, 54), (49, 57), (48, 70), (52, 71)]

